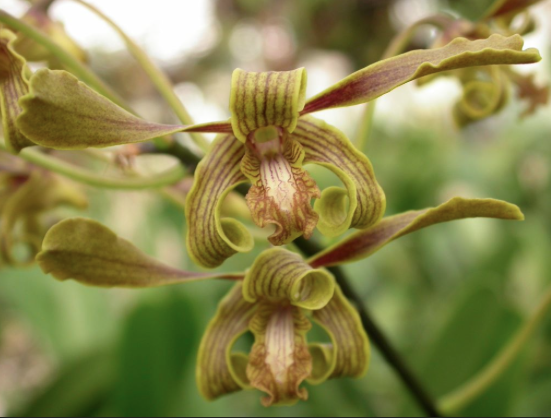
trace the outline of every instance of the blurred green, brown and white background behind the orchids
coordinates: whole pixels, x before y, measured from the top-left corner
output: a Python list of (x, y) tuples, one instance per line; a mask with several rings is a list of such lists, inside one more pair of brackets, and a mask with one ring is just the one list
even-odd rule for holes
[[(2, 3), (14, 14), (26, 7), (17, 0)], [(444, 10), (476, 19), (491, 2), (91, 3), (153, 55), (196, 120), (207, 121), (229, 116), (229, 81), (235, 67), (306, 66), (310, 92), (316, 93), (376, 61), (393, 35), (414, 21)], [(534, 14), (538, 29), (527, 42), (547, 57), (551, 4), (543, 2)], [(141, 113), (172, 121), (107, 27), (70, 1), (59, 1), (53, 16), (89, 50), (93, 68)], [(431, 33), (419, 36), (423, 46)], [(548, 62), (521, 70), (536, 71), (538, 81), (546, 82)], [(439, 225), (346, 267), (367, 306), (434, 396), (448, 393), (480, 370), (551, 285), (549, 109), (520, 121), (521, 105), (513, 101), (499, 115), (458, 131), (451, 108), (459, 95), (457, 81), (442, 78), (423, 88), (408, 85), (379, 101), (364, 151), (387, 193), (387, 214), (461, 195), (516, 203), (526, 221)], [(349, 108), (322, 117), (354, 137), (362, 115), (361, 108)], [(336, 181), (322, 170), (312, 172), (320, 186)], [(86, 191), (86, 212), (66, 209), (61, 215), (101, 220), (149, 254), (194, 268), (182, 239), (183, 213), (173, 203), (154, 192)], [(262, 245), (257, 245), (255, 254), (260, 250)], [(224, 269), (243, 270), (255, 254), (236, 256)], [(196, 352), (227, 288), (226, 283), (210, 281), (141, 291), (101, 290), (59, 283), (36, 267), (1, 268), (0, 415), (421, 414), (376, 350), (365, 378), (309, 387), (310, 400), (292, 408), (266, 410), (258, 393), (205, 402), (195, 386)], [(550, 352), (548, 319), (499, 383), (462, 413), (548, 416)]]

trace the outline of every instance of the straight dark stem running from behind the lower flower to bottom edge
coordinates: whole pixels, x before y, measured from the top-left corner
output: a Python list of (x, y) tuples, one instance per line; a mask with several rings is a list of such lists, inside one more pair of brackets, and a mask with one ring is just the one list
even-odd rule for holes
[[(299, 238), (294, 241), (294, 244), (306, 255), (313, 256), (322, 250), (316, 242)], [(398, 374), (404, 385), (415, 398), (417, 404), (430, 417), (441, 417), (436, 402), (432, 399), (429, 393), (421, 385), (417, 377), (406, 365), (398, 351), (392, 346), (384, 332), (373, 320), (368, 309), (365, 307), (361, 297), (356, 293), (349, 283), (346, 274), (340, 267), (330, 267), (328, 270), (335, 276), (344, 295), (356, 305), (362, 325), (369, 335), (369, 338), (377, 346), (385, 360), (390, 364), (394, 371)]]

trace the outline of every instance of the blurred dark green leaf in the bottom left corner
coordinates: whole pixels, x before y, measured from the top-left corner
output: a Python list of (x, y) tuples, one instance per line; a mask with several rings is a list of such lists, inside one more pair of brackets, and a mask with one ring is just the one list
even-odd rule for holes
[(114, 378), (114, 356), (94, 352), (63, 366), (52, 382), (11, 416), (82, 417), (105, 402)]

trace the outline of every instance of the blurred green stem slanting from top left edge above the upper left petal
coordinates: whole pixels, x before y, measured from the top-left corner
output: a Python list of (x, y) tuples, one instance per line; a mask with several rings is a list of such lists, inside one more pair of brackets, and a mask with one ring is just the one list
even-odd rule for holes
[(38, 29), (33, 28), (22, 20), (11, 16), (3, 10), (0, 10), (0, 23), (9, 26), (17, 32), (21, 32), (36, 43), (48, 49), (63, 63), (63, 65), (71, 73), (77, 76), (81, 81), (85, 82), (98, 93), (107, 97), (119, 106), (128, 109), (128, 107), (124, 103), (124, 100), (121, 99), (116, 93), (114, 93), (97, 75), (95, 75), (79, 60), (73, 57), (69, 52), (65, 51), (65, 49), (63, 49), (57, 43), (48, 38), (47, 35), (39, 31)]

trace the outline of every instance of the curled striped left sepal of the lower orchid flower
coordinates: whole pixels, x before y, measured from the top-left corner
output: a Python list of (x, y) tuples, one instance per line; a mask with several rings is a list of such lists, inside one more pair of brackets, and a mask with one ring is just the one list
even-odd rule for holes
[(248, 388), (247, 357), (231, 350), (249, 329), (255, 310), (256, 305), (243, 299), (241, 283), (220, 302), (203, 336), (197, 359), (197, 386), (207, 400)]

